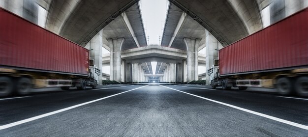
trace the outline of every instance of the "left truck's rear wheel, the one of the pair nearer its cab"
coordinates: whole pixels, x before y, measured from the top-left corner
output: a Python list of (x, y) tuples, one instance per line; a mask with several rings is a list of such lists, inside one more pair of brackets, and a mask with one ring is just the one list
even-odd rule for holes
[(32, 87), (31, 79), (20, 78), (17, 82), (16, 92), (18, 95), (28, 95)]

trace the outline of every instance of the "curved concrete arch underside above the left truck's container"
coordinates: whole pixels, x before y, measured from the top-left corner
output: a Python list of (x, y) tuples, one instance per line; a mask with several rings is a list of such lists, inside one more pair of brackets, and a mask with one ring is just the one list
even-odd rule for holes
[(53, 0), (46, 28), (85, 46), (92, 37), (139, 0)]

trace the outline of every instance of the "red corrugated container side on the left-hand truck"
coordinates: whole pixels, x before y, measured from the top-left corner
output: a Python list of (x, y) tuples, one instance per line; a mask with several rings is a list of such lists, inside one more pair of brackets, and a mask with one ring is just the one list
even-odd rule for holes
[(88, 75), (89, 50), (0, 8), (0, 65)]

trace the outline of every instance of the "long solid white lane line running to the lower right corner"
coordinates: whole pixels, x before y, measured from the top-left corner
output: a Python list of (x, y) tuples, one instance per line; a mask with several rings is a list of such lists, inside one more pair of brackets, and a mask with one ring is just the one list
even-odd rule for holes
[[(163, 85), (160, 85), (160, 86), (163, 86)], [(167, 86), (163, 86), (163, 87), (166, 87), (166, 88), (169, 88), (169, 89), (173, 89), (173, 88), (170, 88), (170, 87), (167, 87)], [(194, 94), (190, 94), (190, 93), (187, 93), (187, 92), (184, 92), (184, 91), (181, 91), (181, 90), (177, 90), (177, 89), (173, 89), (173, 90), (176, 90), (176, 91), (179, 91), (179, 92), (191, 95), (191, 96), (195, 96), (195, 97), (198, 97), (198, 98), (201, 98), (201, 99), (205, 99), (205, 100), (208, 100), (208, 101), (212, 101), (212, 102), (215, 102), (215, 103), (218, 103), (218, 104), (221, 104), (221, 105), (224, 105), (224, 106), (228, 106), (228, 107), (231, 107), (231, 108), (234, 108), (234, 109), (237, 109), (237, 110), (242, 110), (242, 111), (245, 111), (245, 112), (248, 112), (248, 113), (259, 115), (259, 116), (262, 116), (262, 117), (265, 117), (265, 118), (268, 118), (268, 119), (272, 119), (272, 120), (275, 120), (275, 121), (278, 121), (278, 122), (281, 122), (281, 123), (285, 123), (285, 124), (288, 124), (288, 125), (291, 125), (291, 126), (294, 126), (294, 127), (298, 127), (298, 128), (301, 128), (301, 129), (308, 130), (308, 126), (306, 126), (306, 125), (302, 125), (302, 124), (299, 124), (299, 123), (295, 123), (295, 122), (291, 122), (291, 121), (288, 121), (288, 120), (280, 119), (280, 118), (277, 118), (277, 117), (274, 117), (274, 116), (270, 116), (270, 115), (267, 115), (267, 114), (263, 114), (263, 113), (259, 113), (259, 112), (256, 112), (256, 111), (247, 110), (247, 109), (240, 108), (240, 107), (237, 107), (237, 106), (234, 106), (234, 105), (230, 105), (230, 104), (226, 104), (226, 103), (219, 102), (219, 101), (216, 101), (216, 100), (212, 100), (212, 99), (208, 99), (208, 98), (205, 98), (205, 97), (201, 97), (201, 96), (197, 96), (197, 95), (194, 95)]]

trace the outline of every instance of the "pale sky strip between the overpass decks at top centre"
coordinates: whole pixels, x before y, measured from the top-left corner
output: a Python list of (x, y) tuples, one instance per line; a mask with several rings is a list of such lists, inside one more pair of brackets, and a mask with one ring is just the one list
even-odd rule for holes
[[(161, 43), (164, 29), (168, 0), (140, 0), (139, 1), (143, 25), (145, 27), (147, 42), (150, 44)], [(160, 40), (159, 40), (160, 37)]]

